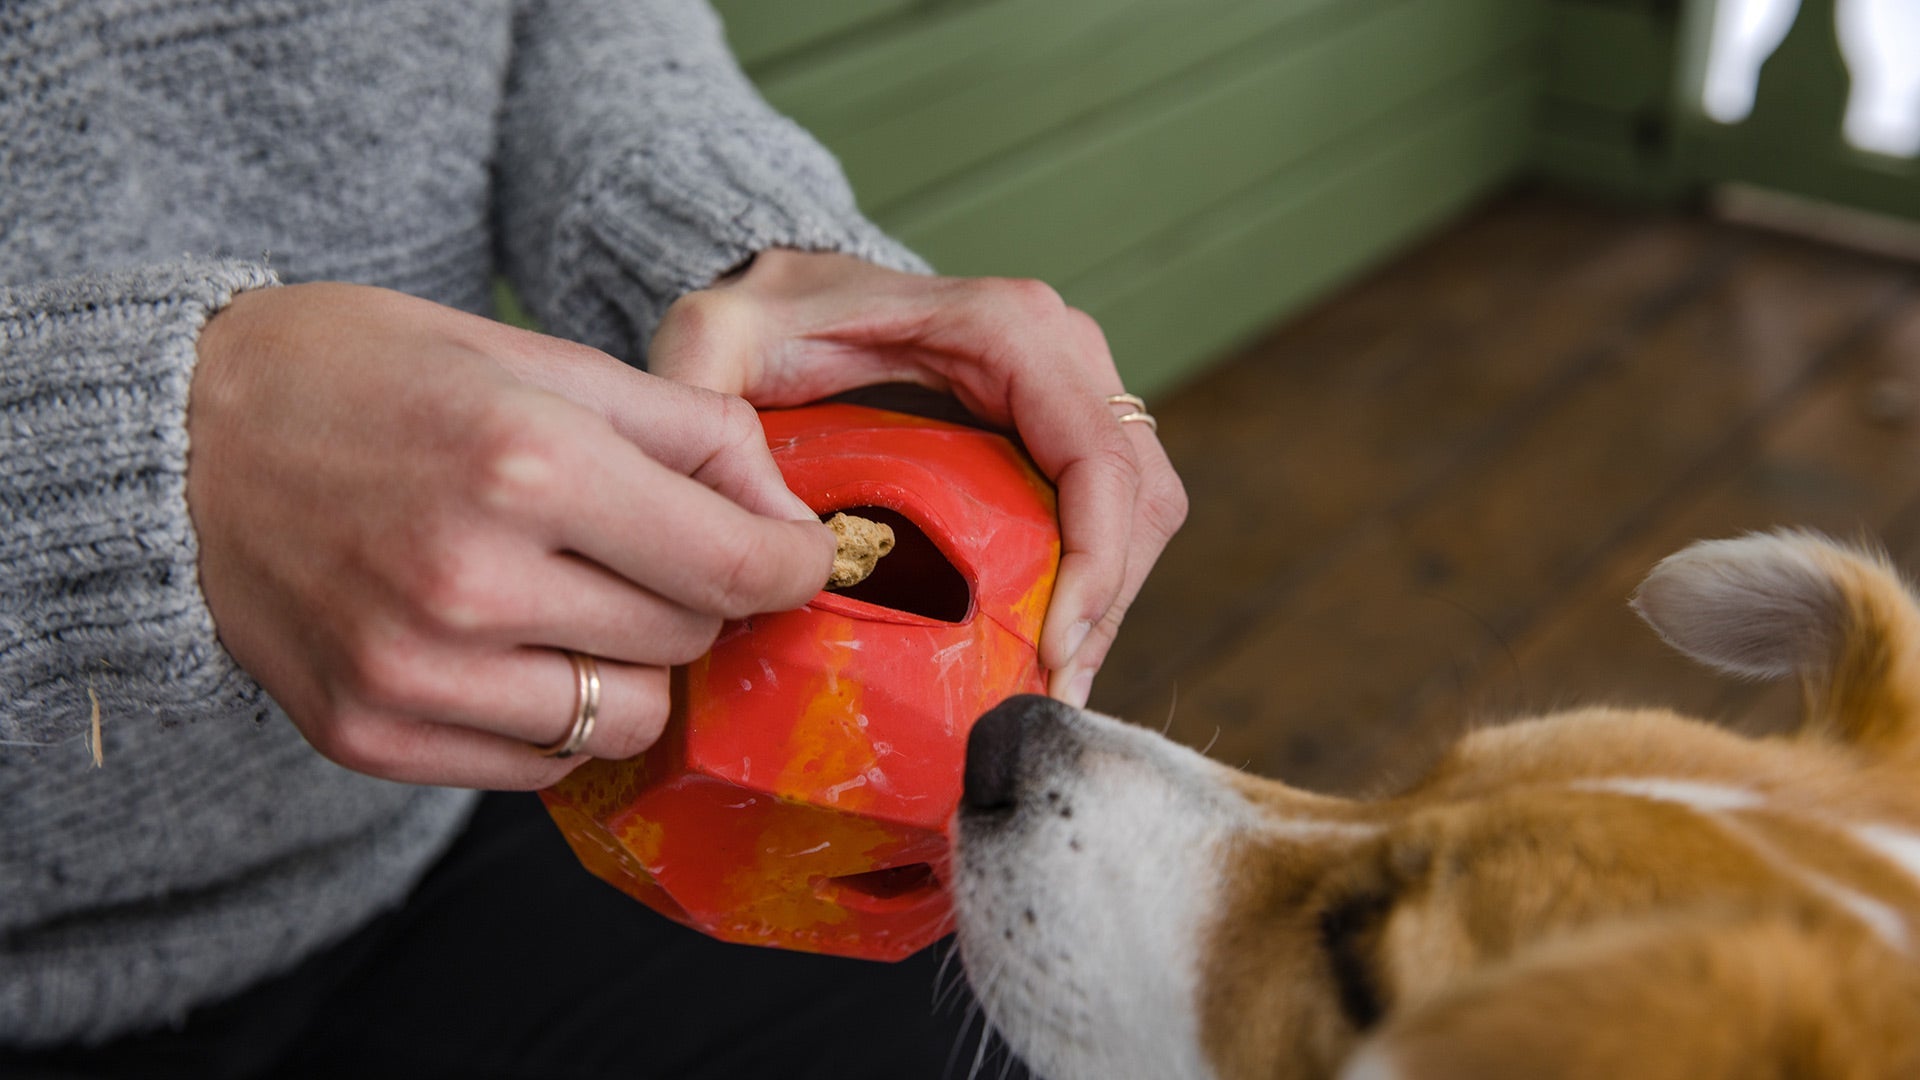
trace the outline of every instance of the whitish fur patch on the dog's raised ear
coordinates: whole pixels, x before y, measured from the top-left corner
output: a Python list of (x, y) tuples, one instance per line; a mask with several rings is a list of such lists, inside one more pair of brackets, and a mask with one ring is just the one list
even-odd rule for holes
[(1640, 613), (1686, 655), (1749, 678), (1824, 667), (1843, 630), (1834, 559), (1812, 532), (1703, 540), (1653, 567), (1634, 596)]

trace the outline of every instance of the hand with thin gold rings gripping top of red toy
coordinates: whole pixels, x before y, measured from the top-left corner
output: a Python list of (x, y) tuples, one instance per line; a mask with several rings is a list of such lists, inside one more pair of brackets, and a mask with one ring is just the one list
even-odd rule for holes
[(1014, 429), (1060, 488), (1062, 557), (1041, 632), (1050, 692), (1085, 705), (1092, 676), (1167, 538), (1187, 519), (1165, 450), (1119, 423), (1100, 327), (1037, 281), (939, 279), (833, 254), (764, 252), (682, 296), (647, 367), (760, 407), (876, 382), (956, 396)]

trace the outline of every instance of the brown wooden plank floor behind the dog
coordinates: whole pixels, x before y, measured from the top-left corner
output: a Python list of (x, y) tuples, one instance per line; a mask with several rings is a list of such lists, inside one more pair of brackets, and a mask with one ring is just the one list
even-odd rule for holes
[(1920, 267), (1812, 242), (1503, 196), (1152, 405), (1194, 509), (1092, 705), (1306, 788), (1567, 703), (1788, 723), (1628, 611), (1690, 540), (1920, 571)]

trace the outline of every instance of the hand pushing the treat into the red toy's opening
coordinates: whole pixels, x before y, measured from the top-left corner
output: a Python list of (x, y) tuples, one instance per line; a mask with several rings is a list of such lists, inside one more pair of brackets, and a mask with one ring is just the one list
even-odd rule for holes
[(351, 284), (246, 292), (188, 405), (200, 578), (232, 657), (340, 765), (540, 788), (659, 736), (668, 667), (791, 609), (833, 538), (753, 409), (595, 350)]

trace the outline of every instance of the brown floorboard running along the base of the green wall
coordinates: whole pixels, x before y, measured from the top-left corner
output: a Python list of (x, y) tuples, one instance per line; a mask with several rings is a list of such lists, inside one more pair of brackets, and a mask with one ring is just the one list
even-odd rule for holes
[[(1194, 509), (1116, 644), (1100, 705), (1162, 696), (1344, 534), (1471, 469), (1609, 334), (1716, 269), (1692, 223), (1540, 200), (1500, 209), (1156, 402)], [(1555, 292), (1584, 306), (1555, 309)]]

